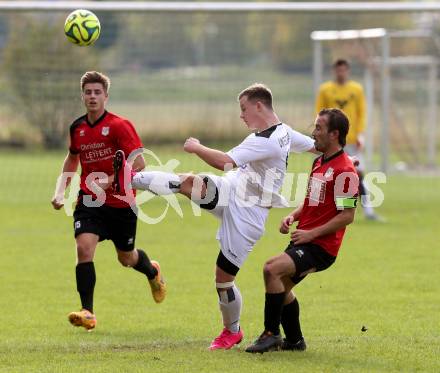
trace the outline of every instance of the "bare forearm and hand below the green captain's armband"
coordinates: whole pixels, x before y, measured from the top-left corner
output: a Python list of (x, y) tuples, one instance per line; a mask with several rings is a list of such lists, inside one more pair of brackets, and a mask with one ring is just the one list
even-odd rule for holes
[(355, 211), (355, 208), (344, 209), (327, 223), (308, 231), (297, 229), (296, 231), (292, 232), (290, 237), (294, 244), (300, 245), (311, 242), (315, 238), (334, 233), (353, 222)]

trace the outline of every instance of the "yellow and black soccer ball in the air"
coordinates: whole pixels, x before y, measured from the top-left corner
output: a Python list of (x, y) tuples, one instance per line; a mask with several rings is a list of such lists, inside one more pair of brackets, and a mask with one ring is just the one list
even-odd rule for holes
[(85, 46), (93, 44), (99, 37), (99, 19), (90, 10), (77, 9), (70, 13), (64, 23), (64, 33), (73, 44)]

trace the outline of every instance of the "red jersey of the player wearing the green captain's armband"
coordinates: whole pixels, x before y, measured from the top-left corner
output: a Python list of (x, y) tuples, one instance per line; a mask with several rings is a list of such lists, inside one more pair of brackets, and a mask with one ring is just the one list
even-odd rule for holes
[[(311, 230), (327, 223), (339, 211), (355, 208), (358, 188), (359, 179), (353, 162), (343, 150), (327, 159), (320, 156), (313, 163), (297, 228)], [(344, 233), (345, 228), (318, 237), (312, 243), (336, 256)]]

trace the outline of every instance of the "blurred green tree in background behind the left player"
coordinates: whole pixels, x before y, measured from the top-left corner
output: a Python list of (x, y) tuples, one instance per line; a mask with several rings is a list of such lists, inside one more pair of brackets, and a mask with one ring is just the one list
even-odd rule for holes
[(59, 17), (17, 15), (10, 22), (2, 69), (10, 104), (39, 130), (47, 148), (60, 147), (82, 110), (79, 79), (98, 69), (98, 51), (67, 41)]

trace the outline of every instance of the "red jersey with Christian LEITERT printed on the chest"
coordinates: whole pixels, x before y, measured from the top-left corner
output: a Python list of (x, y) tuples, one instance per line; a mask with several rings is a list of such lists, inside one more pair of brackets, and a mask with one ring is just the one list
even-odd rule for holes
[[(126, 157), (142, 147), (142, 142), (127, 119), (105, 111), (95, 122), (89, 123), (87, 115), (75, 120), (70, 126), (70, 153), (79, 154), (81, 162), (81, 190), (93, 193), (86, 186), (86, 178), (92, 172), (113, 174), (113, 156), (123, 150)], [(128, 207), (128, 204), (106, 193), (105, 204), (111, 207)]]

